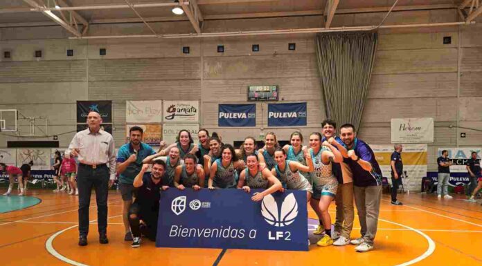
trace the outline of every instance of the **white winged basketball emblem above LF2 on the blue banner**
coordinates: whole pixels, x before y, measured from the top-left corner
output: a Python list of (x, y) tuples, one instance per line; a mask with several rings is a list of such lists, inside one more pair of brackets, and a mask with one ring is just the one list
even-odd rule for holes
[(290, 193), (286, 196), (285, 200), (283, 200), (281, 210), (278, 211), (278, 204), (273, 196), (268, 195), (262, 200), (261, 214), (269, 225), (285, 227), (291, 225), (296, 216), (298, 216), (298, 203), (296, 202), (293, 193)]

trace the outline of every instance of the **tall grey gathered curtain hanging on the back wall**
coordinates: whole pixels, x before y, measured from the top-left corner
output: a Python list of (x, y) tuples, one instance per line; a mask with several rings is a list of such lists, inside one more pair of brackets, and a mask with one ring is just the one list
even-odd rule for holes
[(316, 36), (316, 57), (327, 117), (358, 131), (377, 50), (376, 32)]

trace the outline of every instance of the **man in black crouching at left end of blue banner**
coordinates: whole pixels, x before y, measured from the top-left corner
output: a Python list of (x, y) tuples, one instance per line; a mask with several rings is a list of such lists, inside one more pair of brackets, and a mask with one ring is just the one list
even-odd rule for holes
[[(154, 160), (150, 176), (144, 177), (149, 166), (150, 164), (143, 164), (132, 184), (138, 188), (137, 198), (129, 209), (130, 229), (134, 238), (132, 247), (141, 246), (141, 234), (152, 241), (156, 240), (160, 191), (169, 188), (163, 186), (161, 182), (164, 171), (166, 171), (166, 163), (163, 160)], [(141, 225), (141, 220), (143, 225)]]

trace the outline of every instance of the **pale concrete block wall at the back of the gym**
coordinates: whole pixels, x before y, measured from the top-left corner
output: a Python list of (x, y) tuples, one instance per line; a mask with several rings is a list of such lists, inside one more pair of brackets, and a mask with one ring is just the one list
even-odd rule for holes
[[(376, 25), (384, 13), (337, 15), (333, 26)], [(454, 10), (394, 12), (386, 24), (452, 22)], [(482, 22), (482, 21), (481, 21)], [(321, 27), (321, 17), (206, 21), (206, 32), (267, 28)], [(152, 23), (162, 33), (192, 32), (187, 21)], [(142, 24), (93, 25), (91, 35), (149, 34)], [(429, 170), (438, 146), (480, 146), (482, 133), (482, 26), (380, 30), (380, 41), (359, 136), (369, 143), (390, 142), (392, 117), (434, 117), (435, 140), (429, 144)], [(0, 108), (26, 116), (48, 117), (48, 135), (69, 144), (75, 131), (75, 101), (114, 102), (116, 145), (125, 141), (125, 100), (190, 99), (201, 102), (201, 126), (223, 140), (258, 136), (273, 130), (286, 140), (294, 129), (267, 129), (267, 105), (257, 103), (256, 129), (217, 128), (217, 104), (244, 103), (247, 86), (280, 85), (280, 102), (307, 102), (305, 135), (316, 131), (325, 107), (314, 53), (314, 35), (226, 37), (218, 39), (69, 40), (57, 26), (0, 29)], [(443, 44), (451, 36), (452, 44)], [(287, 50), (288, 43), (296, 50)], [(216, 46), (225, 52), (217, 53)], [(251, 52), (259, 44), (260, 52)], [(190, 46), (190, 54), (181, 53)], [(99, 48), (107, 48), (100, 56)], [(73, 57), (66, 50), (74, 49)], [(34, 51), (44, 57), (35, 59)], [(460, 78), (458, 78), (460, 77)], [(263, 117), (264, 115), (264, 117)], [(452, 127), (449, 127), (452, 125)], [(25, 126), (20, 131), (28, 131)], [(465, 139), (460, 138), (466, 132)], [(65, 133), (63, 135), (60, 135)], [(0, 135), (0, 146), (17, 137)]]

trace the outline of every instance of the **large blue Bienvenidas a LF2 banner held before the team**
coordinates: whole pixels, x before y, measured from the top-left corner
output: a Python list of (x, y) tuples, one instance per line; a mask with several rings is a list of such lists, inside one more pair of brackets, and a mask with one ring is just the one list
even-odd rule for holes
[(308, 250), (306, 192), (161, 191), (156, 247)]

